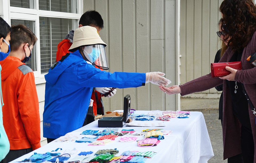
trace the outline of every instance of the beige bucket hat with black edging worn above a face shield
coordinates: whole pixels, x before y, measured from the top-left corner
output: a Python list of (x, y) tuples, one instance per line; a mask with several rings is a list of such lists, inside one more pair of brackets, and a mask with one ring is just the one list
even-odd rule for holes
[(102, 44), (107, 46), (99, 36), (97, 29), (91, 26), (83, 26), (77, 28), (74, 31), (74, 39), (73, 44), (69, 48), (69, 50), (83, 46), (83, 45), (94, 45), (94, 44)]

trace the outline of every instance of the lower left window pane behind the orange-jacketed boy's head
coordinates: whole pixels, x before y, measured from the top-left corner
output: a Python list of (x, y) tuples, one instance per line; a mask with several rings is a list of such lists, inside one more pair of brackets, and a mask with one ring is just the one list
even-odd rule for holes
[[(35, 33), (35, 22), (31, 21), (31, 20), (18, 20), (18, 19), (11, 19), (11, 25), (18, 25), (18, 24), (23, 24), (27, 27), (30, 28), (30, 30)], [(29, 61), (26, 62), (26, 65), (29, 66), (33, 71), (37, 70), (37, 66), (36, 66), (36, 52), (35, 52), (35, 47), (36, 47), (37, 43), (34, 45), (33, 49), (32, 49), (32, 56), (31, 59)], [(25, 56), (25, 53), (24, 53)]]

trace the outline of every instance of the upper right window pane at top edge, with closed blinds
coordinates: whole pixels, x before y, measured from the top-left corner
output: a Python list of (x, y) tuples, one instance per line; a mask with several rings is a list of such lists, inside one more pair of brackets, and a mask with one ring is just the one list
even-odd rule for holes
[(39, 0), (39, 10), (77, 13), (76, 0)]

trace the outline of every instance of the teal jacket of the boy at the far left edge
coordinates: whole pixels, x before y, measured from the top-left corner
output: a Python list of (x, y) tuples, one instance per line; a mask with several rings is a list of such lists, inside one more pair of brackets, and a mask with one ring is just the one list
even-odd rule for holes
[[(2, 67), (0, 65), (0, 71), (2, 70)], [(0, 79), (1, 79), (1, 73), (0, 73)], [(0, 92), (1, 92), (1, 102), (2, 105), (0, 105), (0, 161), (3, 160), (6, 156), (6, 154), (10, 150), (10, 143), (8, 140), (8, 137), (5, 133), (5, 128), (3, 127), (3, 112), (2, 112), (2, 106), (3, 104), (3, 95), (2, 95), (2, 86), (1, 86), (1, 80), (0, 80)]]

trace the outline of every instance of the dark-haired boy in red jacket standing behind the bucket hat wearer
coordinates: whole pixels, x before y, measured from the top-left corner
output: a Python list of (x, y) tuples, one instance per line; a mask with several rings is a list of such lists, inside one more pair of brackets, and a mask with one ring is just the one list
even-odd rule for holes
[[(78, 27), (83, 27), (83, 26), (95, 27), (97, 29), (97, 32), (99, 33), (101, 29), (104, 27), (103, 19), (99, 14), (99, 12), (94, 10), (86, 11), (79, 20)], [(69, 48), (73, 44), (73, 37), (74, 37), (74, 30), (71, 30), (69, 31), (69, 34), (66, 35), (65, 39), (58, 44), (58, 49), (56, 53), (57, 62), (61, 60), (62, 56), (65, 56), (67, 53), (70, 53)], [(93, 92), (91, 95), (91, 103), (90, 103), (88, 113), (83, 126), (93, 122), (95, 115), (97, 114), (104, 115), (104, 106), (103, 106), (103, 101), (101, 97), (102, 97), (102, 94), (108, 93), (110, 90), (111, 88), (108, 88), (108, 87), (99, 87), (99, 88), (93, 89)], [(116, 93), (116, 91), (117, 90), (114, 89), (112, 93), (109, 94), (107, 97), (112, 97)], [(48, 139), (48, 143), (50, 141), (51, 140)]]

